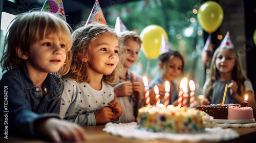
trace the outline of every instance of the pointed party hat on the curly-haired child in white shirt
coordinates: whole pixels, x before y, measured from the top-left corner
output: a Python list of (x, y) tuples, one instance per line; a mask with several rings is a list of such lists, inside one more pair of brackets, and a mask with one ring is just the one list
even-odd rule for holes
[(87, 19), (86, 26), (88, 24), (90, 24), (91, 22), (93, 22), (93, 21), (106, 25), (106, 20), (105, 20), (105, 17), (103, 15), (103, 12), (100, 8), (98, 0), (96, 0), (95, 3), (94, 3), (93, 9), (92, 9), (92, 11), (91, 11), (91, 13), (90, 13), (90, 15)]

